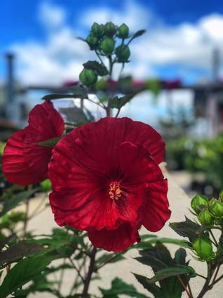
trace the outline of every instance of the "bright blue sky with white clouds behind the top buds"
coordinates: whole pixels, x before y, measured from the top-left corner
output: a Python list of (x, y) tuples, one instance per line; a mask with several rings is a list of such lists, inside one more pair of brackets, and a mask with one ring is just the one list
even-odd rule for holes
[(10, 49), (17, 53), (17, 77), (27, 84), (76, 79), (91, 54), (73, 36), (85, 36), (94, 20), (147, 29), (126, 70), (137, 79), (210, 79), (212, 48), (223, 48), (220, 0), (3, 0), (0, 10), (0, 79)]

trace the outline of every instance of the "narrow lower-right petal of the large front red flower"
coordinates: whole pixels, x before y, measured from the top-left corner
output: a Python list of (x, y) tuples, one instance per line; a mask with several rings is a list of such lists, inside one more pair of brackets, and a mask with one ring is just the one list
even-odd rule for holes
[(142, 224), (149, 231), (159, 231), (170, 218), (171, 211), (168, 209), (167, 192), (167, 180), (160, 180), (148, 184), (142, 207)]

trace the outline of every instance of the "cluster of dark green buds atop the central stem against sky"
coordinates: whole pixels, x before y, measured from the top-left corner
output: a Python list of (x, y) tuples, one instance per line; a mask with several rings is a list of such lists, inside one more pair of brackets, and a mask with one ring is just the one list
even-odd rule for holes
[[(129, 28), (126, 24), (116, 26), (113, 22), (107, 22), (105, 25), (99, 25), (94, 22), (90, 34), (84, 41), (88, 43), (90, 50), (94, 50), (97, 57), (100, 57), (101, 65), (104, 65), (102, 62), (103, 57), (107, 57), (112, 65), (114, 63), (124, 64), (129, 62), (130, 49), (128, 44), (135, 39), (135, 37), (143, 33), (144, 30), (140, 30), (140, 32), (136, 32), (136, 34), (130, 36)], [(127, 43), (125, 43), (126, 39), (129, 39)], [(109, 72), (107, 74), (109, 74)], [(98, 75), (100, 74), (98, 74), (95, 69), (84, 67), (79, 79), (84, 85), (90, 86), (97, 82)]]

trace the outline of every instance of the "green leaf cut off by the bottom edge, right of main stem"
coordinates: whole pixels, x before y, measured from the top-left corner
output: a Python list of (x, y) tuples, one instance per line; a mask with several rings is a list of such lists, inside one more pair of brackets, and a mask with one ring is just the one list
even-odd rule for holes
[(109, 290), (104, 290), (101, 287), (99, 287), (100, 291), (102, 292), (103, 298), (115, 298), (119, 297), (121, 294), (126, 294), (129, 297), (135, 297), (135, 298), (149, 298), (145, 296), (144, 294), (140, 294), (135, 290), (135, 287), (133, 285), (129, 285), (128, 283), (123, 282), (120, 278), (114, 278), (112, 280), (112, 287)]

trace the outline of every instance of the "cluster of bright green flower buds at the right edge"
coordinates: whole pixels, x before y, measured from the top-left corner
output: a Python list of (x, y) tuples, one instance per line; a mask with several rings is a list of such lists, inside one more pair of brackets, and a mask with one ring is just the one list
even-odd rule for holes
[(196, 195), (191, 200), (191, 208), (196, 212), (198, 221), (204, 228), (204, 233), (194, 241), (193, 248), (199, 259), (208, 261), (215, 257), (212, 241), (210, 240), (210, 230), (214, 226), (222, 226), (223, 192), (219, 194), (218, 199), (208, 199), (205, 196)]

